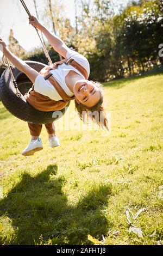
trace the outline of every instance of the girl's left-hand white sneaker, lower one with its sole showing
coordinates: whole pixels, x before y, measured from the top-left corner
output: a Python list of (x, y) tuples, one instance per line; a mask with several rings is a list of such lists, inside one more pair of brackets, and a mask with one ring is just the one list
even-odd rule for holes
[(23, 156), (31, 156), (33, 155), (36, 151), (39, 151), (43, 149), (42, 147), (42, 142), (40, 138), (35, 139), (34, 141), (30, 141), (27, 148), (25, 148), (22, 151)]

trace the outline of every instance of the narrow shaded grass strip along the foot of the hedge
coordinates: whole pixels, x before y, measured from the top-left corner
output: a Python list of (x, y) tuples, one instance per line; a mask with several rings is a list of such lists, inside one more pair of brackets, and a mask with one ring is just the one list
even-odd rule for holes
[(151, 76), (162, 75), (162, 74), (163, 74), (163, 68), (162, 68), (162, 70), (161, 69), (154, 69), (154, 70), (149, 70), (148, 72), (143, 73), (140, 76), (139, 75), (133, 75), (133, 76), (130, 76), (128, 78), (121, 78), (119, 80), (117, 79), (117, 80), (114, 80), (114, 81), (105, 82), (105, 83), (103, 83), (103, 85), (104, 85), (104, 87), (110, 86), (110, 87), (115, 87), (116, 89), (120, 89), (123, 86), (125, 86), (127, 82), (134, 82), (136, 80), (140, 80), (140, 79), (145, 78), (145, 77), (151, 77)]

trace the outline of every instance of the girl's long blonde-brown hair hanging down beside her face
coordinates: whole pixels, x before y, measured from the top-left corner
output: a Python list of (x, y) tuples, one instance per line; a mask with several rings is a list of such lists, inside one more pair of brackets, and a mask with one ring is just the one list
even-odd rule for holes
[(89, 117), (91, 117), (92, 120), (97, 125), (102, 127), (102, 129), (105, 128), (106, 130), (109, 131), (109, 122), (106, 117), (106, 112), (103, 106), (103, 86), (101, 83), (98, 83), (98, 82), (95, 82), (95, 83), (96, 83), (96, 87), (98, 87), (99, 92), (101, 94), (99, 101), (96, 103), (96, 105), (92, 107), (87, 107), (82, 103), (78, 103), (77, 100), (75, 99), (74, 102), (75, 102), (76, 110), (78, 111), (79, 118), (83, 120), (84, 123), (86, 122), (86, 120), (89, 119)]

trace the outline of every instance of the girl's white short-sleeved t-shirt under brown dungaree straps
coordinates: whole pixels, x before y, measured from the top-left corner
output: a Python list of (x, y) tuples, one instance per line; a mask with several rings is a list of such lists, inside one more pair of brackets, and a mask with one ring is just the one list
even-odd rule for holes
[[(83, 66), (83, 68), (87, 71), (88, 76), (90, 75), (90, 64), (82, 54), (79, 54), (76, 51), (68, 50), (66, 57), (72, 57), (77, 63)], [(55, 80), (57, 80), (62, 89), (64, 89), (65, 93), (68, 96), (72, 97), (74, 94), (71, 92), (71, 90), (67, 87), (65, 83), (65, 77), (67, 76), (70, 70), (77, 72), (85, 79), (85, 77), (76, 68), (73, 68), (73, 66), (66, 64), (61, 64), (57, 67), (57, 69), (52, 69), (49, 72), (53, 74), (53, 77), (55, 78)], [(48, 96), (52, 100), (62, 100), (61, 96), (58, 94), (57, 90), (53, 87), (51, 82), (45, 80), (43, 75), (41, 74), (38, 75), (35, 79), (34, 90), (37, 93)]]

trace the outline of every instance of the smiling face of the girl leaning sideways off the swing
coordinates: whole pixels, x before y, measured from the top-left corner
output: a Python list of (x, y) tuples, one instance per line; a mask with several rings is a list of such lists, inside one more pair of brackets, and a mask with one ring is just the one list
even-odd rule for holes
[(85, 79), (76, 82), (73, 88), (74, 96), (78, 103), (87, 107), (93, 107), (99, 101), (101, 93), (96, 87), (96, 83)]

